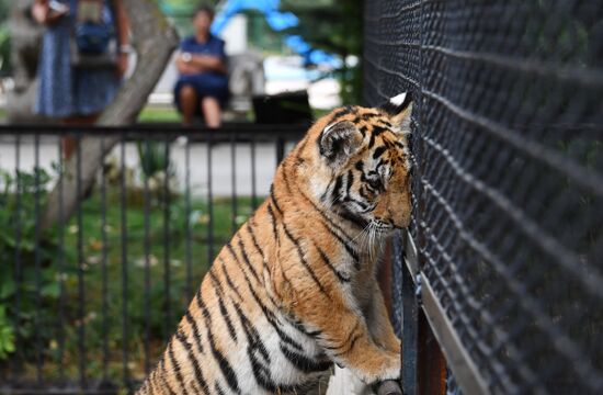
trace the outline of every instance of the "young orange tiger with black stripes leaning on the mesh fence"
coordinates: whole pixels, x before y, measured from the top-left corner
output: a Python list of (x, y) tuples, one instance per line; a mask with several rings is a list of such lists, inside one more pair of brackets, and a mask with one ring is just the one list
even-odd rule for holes
[(401, 94), (309, 127), (137, 394), (304, 394), (334, 364), (400, 380), (376, 257), (410, 222), (411, 109)]

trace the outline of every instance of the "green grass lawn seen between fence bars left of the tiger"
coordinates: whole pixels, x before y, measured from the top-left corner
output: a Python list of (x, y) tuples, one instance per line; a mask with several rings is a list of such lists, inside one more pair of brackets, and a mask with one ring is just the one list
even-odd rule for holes
[[(213, 257), (208, 257), (209, 213), (207, 201), (193, 199), (191, 212), (186, 213), (182, 196), (171, 196), (169, 204), (169, 221), (166, 222), (164, 202), (156, 195), (151, 201), (148, 216), (148, 235), (145, 233), (144, 194), (139, 190), (129, 190), (127, 194), (127, 211), (125, 212), (125, 233), (122, 229), (121, 195), (117, 188), (110, 188), (106, 196), (106, 223), (104, 226), (106, 245), (103, 245), (103, 226), (101, 216), (101, 200), (99, 193), (83, 202), (81, 206), (81, 238), (78, 233), (78, 217), (75, 216), (65, 229), (66, 259), (64, 270), (52, 271), (57, 279), (64, 280), (65, 302), (62, 325), (66, 341), (64, 354), (65, 375), (78, 377), (77, 336), (80, 326), (84, 328), (84, 345), (87, 349), (87, 375), (100, 377), (103, 366), (103, 341), (106, 339), (109, 349), (107, 377), (120, 382), (123, 372), (123, 348), (129, 353), (128, 369), (130, 377), (141, 379), (145, 375), (145, 334), (149, 331), (150, 361), (157, 360), (163, 350), (164, 341), (175, 329), (182, 317), (190, 295), (186, 294), (186, 223), (191, 226), (191, 289), (195, 292), (201, 280), (209, 268)], [(251, 199), (239, 198), (236, 224), (239, 226), (251, 214)], [(234, 213), (229, 199), (213, 200), (213, 256), (217, 255), (224, 244), (231, 237)], [(168, 224), (168, 227), (164, 225)], [(167, 237), (164, 237), (167, 235)], [(122, 242), (124, 237), (125, 244)], [(148, 255), (146, 250), (148, 237)], [(168, 242), (166, 244), (164, 240)], [(82, 246), (82, 264), (78, 270), (78, 244)], [(105, 246), (105, 248), (103, 248)], [(167, 248), (166, 248), (167, 247)], [(123, 255), (126, 260), (124, 264)], [(103, 257), (106, 257), (104, 259)], [(148, 262), (148, 267), (146, 266)], [(59, 264), (55, 262), (55, 264)], [(105, 269), (103, 269), (105, 268)], [(50, 268), (46, 269), (49, 270)], [(103, 271), (104, 270), (104, 271)], [(147, 272), (148, 270), (148, 272)], [(168, 274), (169, 273), (169, 274)], [(148, 300), (145, 293), (146, 274), (149, 279)], [(166, 278), (169, 275), (169, 278)], [(106, 283), (103, 283), (103, 276)], [(79, 281), (83, 282), (84, 316), (79, 314)], [(166, 292), (164, 281), (168, 281), (170, 292)], [(58, 281), (55, 282), (58, 294)], [(106, 308), (103, 309), (103, 286), (106, 286)], [(124, 289), (126, 286), (126, 289)], [(124, 301), (127, 304), (124, 304)], [(170, 307), (171, 314), (168, 314)], [(44, 308), (58, 307), (46, 304)], [(126, 312), (124, 312), (126, 308)], [(123, 315), (127, 317), (124, 321)], [(50, 315), (45, 323), (44, 375), (48, 380), (58, 377), (59, 329), (57, 315)], [(103, 323), (104, 321), (104, 323)], [(124, 337), (123, 325), (127, 325), (127, 339)], [(105, 327), (105, 326), (106, 327)], [(106, 337), (105, 337), (106, 334)], [(35, 377), (35, 359), (27, 358), (25, 376)]]

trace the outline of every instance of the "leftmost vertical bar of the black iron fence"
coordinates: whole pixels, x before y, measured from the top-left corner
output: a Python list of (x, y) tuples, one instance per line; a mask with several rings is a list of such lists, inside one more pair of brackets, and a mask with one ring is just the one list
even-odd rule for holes
[(15, 202), (14, 202), (14, 343), (15, 356), (12, 363), (13, 380), (19, 379), (19, 372), (23, 362), (21, 352), (21, 136), (14, 139), (14, 176), (15, 176)]

